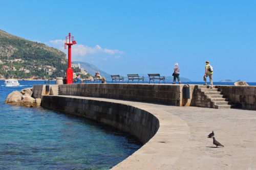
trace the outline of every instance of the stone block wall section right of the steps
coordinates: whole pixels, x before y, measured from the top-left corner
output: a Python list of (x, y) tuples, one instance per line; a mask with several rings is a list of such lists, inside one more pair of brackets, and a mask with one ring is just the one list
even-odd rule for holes
[(227, 98), (243, 109), (256, 110), (256, 86), (216, 86)]

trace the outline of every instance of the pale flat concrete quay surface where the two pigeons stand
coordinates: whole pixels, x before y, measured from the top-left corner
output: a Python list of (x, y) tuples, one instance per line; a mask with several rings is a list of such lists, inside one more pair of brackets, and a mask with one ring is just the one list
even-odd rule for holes
[[(112, 169), (256, 169), (255, 110), (68, 97), (130, 105), (159, 119), (156, 135)], [(216, 148), (207, 138), (212, 130), (224, 148)]]

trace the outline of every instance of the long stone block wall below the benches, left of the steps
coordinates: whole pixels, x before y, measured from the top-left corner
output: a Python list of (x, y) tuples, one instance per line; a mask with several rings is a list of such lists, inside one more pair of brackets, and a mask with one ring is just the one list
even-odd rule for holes
[[(64, 84), (61, 95), (89, 96), (182, 106), (181, 85), (170, 84)], [(186, 101), (187, 102), (187, 101)]]

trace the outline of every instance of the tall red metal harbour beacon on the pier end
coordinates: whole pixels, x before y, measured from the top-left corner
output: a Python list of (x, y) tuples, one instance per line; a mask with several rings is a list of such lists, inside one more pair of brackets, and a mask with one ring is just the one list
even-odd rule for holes
[(66, 69), (66, 84), (73, 84), (73, 69), (71, 68), (71, 45), (73, 44), (76, 44), (76, 41), (69, 33), (69, 36), (67, 36), (65, 40), (65, 49), (67, 49), (67, 45), (69, 47), (69, 63), (68, 68)]

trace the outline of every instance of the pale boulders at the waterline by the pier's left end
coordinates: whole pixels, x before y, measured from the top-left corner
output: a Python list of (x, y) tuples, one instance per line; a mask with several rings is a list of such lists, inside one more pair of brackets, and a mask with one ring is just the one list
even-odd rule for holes
[(25, 88), (22, 91), (11, 92), (5, 101), (5, 104), (20, 105), (26, 107), (40, 106), (41, 99), (32, 98), (32, 88)]

